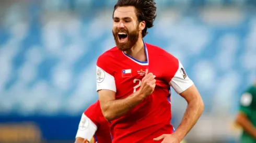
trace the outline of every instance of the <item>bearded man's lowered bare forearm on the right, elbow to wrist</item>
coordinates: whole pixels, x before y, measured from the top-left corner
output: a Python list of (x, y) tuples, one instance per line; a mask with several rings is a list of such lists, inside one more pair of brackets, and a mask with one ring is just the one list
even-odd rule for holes
[(195, 125), (202, 114), (203, 109), (204, 104), (202, 100), (195, 99), (188, 103), (188, 107), (184, 113), (182, 121), (173, 134), (177, 135), (179, 139), (182, 140)]

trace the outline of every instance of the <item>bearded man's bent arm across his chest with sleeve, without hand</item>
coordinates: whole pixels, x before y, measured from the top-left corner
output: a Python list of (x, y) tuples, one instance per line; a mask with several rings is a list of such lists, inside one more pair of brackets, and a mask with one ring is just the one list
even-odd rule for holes
[(124, 99), (115, 99), (117, 88), (115, 86), (113, 69), (107, 66), (109, 65), (107, 64), (108, 59), (105, 56), (99, 57), (97, 61), (96, 81), (102, 114), (106, 120), (112, 121), (138, 105), (143, 100), (143, 97), (138, 92), (135, 92)]

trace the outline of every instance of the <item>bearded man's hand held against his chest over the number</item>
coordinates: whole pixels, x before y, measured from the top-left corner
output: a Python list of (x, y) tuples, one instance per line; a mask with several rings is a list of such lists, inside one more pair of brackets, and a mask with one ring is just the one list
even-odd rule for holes
[(139, 95), (143, 95), (143, 98), (146, 98), (154, 92), (156, 87), (155, 77), (156, 76), (153, 75), (153, 73), (148, 73), (148, 70), (146, 69), (145, 76), (142, 79), (141, 88), (138, 90)]

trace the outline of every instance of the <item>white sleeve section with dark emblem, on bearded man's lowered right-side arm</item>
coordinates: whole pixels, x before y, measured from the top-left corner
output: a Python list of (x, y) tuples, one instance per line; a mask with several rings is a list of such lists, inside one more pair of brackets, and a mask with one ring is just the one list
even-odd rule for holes
[(193, 84), (193, 81), (190, 80), (189, 76), (187, 75), (182, 64), (179, 61), (179, 68), (175, 75), (172, 77), (171, 81), (169, 82), (169, 85), (172, 86), (172, 88), (178, 94), (180, 94), (187, 90)]

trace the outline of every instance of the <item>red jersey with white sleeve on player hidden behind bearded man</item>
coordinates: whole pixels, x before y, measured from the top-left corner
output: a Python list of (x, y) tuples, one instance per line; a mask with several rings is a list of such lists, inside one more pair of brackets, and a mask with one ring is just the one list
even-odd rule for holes
[(91, 140), (95, 138), (98, 143), (111, 143), (109, 122), (104, 118), (99, 100), (89, 106), (82, 115), (76, 137)]

